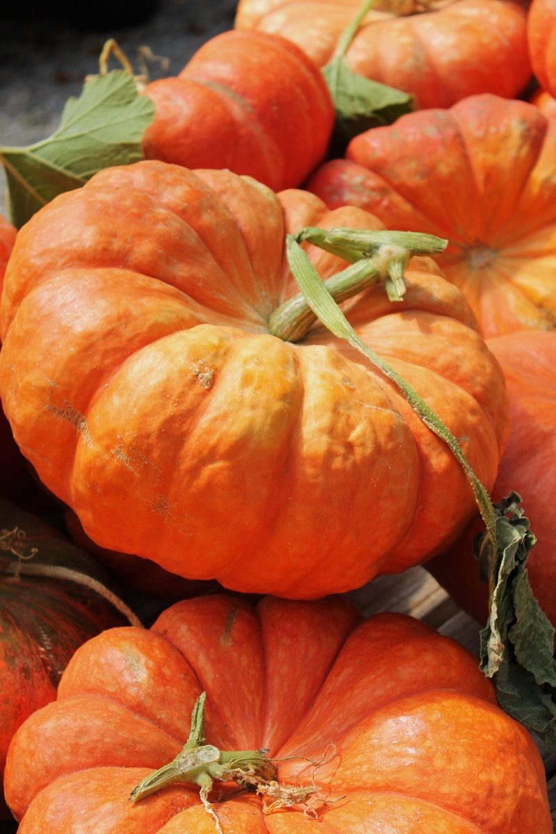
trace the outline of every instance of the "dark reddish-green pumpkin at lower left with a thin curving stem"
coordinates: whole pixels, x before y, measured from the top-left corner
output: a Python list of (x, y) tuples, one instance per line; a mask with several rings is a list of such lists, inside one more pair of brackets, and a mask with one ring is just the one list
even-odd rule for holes
[(56, 697), (73, 652), (129, 621), (105, 582), (57, 530), (0, 499), (0, 776), (14, 732)]

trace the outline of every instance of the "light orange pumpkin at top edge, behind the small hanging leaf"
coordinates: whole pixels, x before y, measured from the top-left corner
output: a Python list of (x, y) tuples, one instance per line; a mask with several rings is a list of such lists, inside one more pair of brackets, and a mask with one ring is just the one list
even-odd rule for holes
[[(321, 67), (360, 5), (360, 0), (241, 0), (235, 25), (278, 33)], [(513, 98), (531, 75), (526, 11), (505, 0), (385, 0), (368, 13), (346, 60), (365, 78), (413, 93), (420, 108), (449, 107), (476, 93)]]

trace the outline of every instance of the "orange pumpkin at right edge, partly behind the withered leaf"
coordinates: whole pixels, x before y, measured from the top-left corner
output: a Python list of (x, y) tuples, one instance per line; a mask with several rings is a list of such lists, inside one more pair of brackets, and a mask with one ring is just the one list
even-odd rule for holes
[[(537, 543), (531, 551), (528, 577), (544, 613), (556, 625), (556, 334), (535, 331), (489, 339), (508, 383), (511, 430), (493, 487), (493, 500), (511, 490), (523, 500)], [(488, 586), (478, 580), (470, 525), (447, 554), (427, 566), (438, 582), (479, 621), (488, 615)]]

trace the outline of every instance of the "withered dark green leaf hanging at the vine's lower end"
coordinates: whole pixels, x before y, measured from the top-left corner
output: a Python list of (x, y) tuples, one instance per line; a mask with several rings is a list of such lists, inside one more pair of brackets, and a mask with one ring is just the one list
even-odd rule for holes
[(520, 500), (511, 493), (494, 505), (498, 552), (493, 564), (481, 565), (491, 586), (481, 668), (493, 678), (500, 706), (556, 751), (554, 629), (529, 585), (526, 564), (535, 537)]

